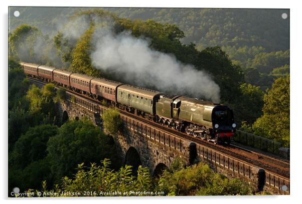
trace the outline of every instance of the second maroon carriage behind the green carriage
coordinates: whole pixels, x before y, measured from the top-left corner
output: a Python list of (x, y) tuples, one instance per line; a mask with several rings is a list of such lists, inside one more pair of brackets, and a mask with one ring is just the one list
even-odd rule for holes
[(73, 73), (70, 75), (70, 86), (74, 89), (90, 93), (90, 81), (94, 77)]

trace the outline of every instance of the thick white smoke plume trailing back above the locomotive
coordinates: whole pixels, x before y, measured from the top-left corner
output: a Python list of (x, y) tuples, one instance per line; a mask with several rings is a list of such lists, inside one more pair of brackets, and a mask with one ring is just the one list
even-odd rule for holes
[(97, 30), (93, 39), (91, 60), (98, 69), (122, 76), (132, 85), (220, 101), (220, 88), (207, 73), (151, 49), (145, 39), (134, 38), (129, 32), (113, 35), (104, 29)]

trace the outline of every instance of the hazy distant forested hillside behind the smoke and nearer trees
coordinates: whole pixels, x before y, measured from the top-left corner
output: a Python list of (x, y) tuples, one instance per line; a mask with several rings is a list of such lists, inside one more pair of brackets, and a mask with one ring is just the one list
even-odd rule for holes
[[(81, 8), (82, 11), (90, 8)], [(54, 36), (79, 8), (18, 8), (21, 18), (11, 19), (11, 29), (31, 22), (45, 35)], [(289, 18), (282, 9), (161, 9), (104, 8), (120, 18), (174, 24), (184, 32), (180, 41), (201, 51), (219, 46), (239, 64), (247, 82), (269, 88), (276, 74), (289, 73)], [(252, 68), (256, 68), (253, 70)], [(280, 69), (281, 68), (281, 69)], [(273, 69), (275, 71), (273, 72)], [(257, 79), (255, 79), (257, 77)]]

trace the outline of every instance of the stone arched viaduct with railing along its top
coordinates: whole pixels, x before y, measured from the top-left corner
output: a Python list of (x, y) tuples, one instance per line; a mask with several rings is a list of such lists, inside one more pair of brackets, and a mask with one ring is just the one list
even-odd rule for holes
[[(79, 119), (88, 117), (102, 128), (101, 114), (105, 107), (89, 99), (67, 92), (67, 98), (58, 105), (58, 117), (64, 122), (68, 118)], [(139, 165), (148, 167), (151, 175), (157, 175), (169, 167), (177, 156), (187, 164), (206, 162), (215, 171), (229, 178), (238, 177), (252, 183), (259, 190), (265, 189), (272, 193), (288, 194), (281, 191), (281, 186), (289, 186), (289, 180), (278, 177), (263, 169), (231, 158), (209, 149), (201, 144), (185, 140), (164, 130), (158, 130), (141, 121), (121, 114), (126, 132), (114, 136), (114, 143), (123, 164), (136, 169)]]

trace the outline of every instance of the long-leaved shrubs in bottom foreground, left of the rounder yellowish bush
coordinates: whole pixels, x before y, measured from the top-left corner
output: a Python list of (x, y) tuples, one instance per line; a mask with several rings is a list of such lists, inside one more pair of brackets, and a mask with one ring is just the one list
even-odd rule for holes
[[(144, 191), (150, 191), (151, 177), (146, 167), (138, 167), (137, 177), (133, 177), (131, 166), (121, 167), (117, 171), (110, 170), (110, 160), (104, 159), (102, 166), (91, 163), (90, 167), (84, 167), (84, 163), (78, 165), (74, 178), (65, 176), (61, 185), (56, 185), (55, 189), (47, 190), (46, 181), (42, 182), (41, 192), (46, 194), (55, 192), (81, 192), (80, 195), (60, 195), (60, 196), (146, 196)], [(130, 193), (142, 192), (142, 194)], [(87, 192), (84, 194), (83, 192)], [(111, 194), (109, 194), (112, 192)], [(114, 194), (120, 192), (121, 194)]]

